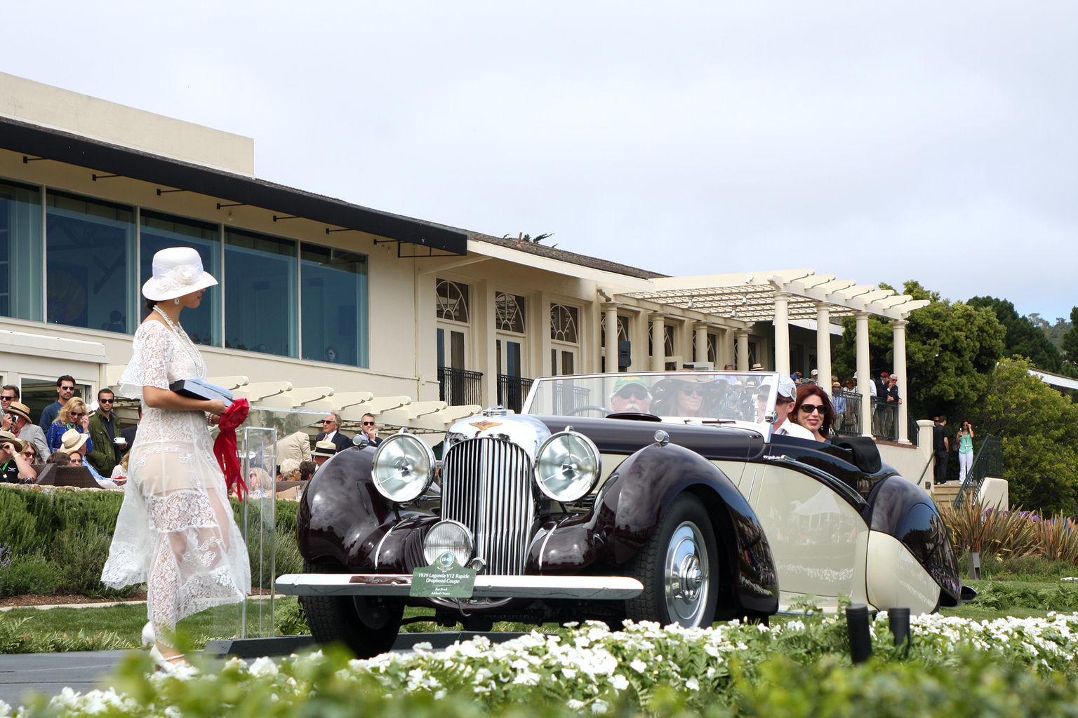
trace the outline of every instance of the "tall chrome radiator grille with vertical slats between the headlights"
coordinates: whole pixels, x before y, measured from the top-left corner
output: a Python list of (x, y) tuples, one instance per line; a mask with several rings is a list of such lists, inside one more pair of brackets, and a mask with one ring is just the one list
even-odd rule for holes
[(527, 560), (536, 497), (531, 461), (515, 444), (494, 438), (455, 444), (442, 461), (442, 518), (475, 537), (486, 574), (520, 575)]

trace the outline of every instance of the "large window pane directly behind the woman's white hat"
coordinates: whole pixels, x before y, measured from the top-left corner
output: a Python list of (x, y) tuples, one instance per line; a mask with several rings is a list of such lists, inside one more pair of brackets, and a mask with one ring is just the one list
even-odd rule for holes
[[(192, 247), (202, 257), (203, 268), (222, 281), (221, 235), (218, 225), (158, 214), (143, 210), (140, 216), (141, 231), (141, 279), (142, 283), (153, 277), (153, 255), (168, 247)], [(195, 343), (221, 346), (221, 287), (211, 286), (203, 296), (197, 309), (183, 311), (183, 328)]]

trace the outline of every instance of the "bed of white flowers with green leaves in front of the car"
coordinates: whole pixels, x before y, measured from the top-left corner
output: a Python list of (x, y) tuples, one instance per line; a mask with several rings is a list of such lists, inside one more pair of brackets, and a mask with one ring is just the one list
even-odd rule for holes
[[(886, 614), (876, 617), (871, 630), (876, 650), (892, 650)], [(1070, 667), (1078, 652), (1078, 614), (993, 621), (924, 615), (911, 619), (911, 656), (927, 662), (949, 661), (960, 650), (977, 650), (1035, 665), (1047, 674)], [(839, 617), (796, 619), (772, 628), (736, 621), (711, 629), (627, 622), (624, 631), (616, 633), (603, 623), (569, 624), (562, 634), (533, 632), (501, 644), (480, 637), (441, 651), (418, 644), (414, 652), (349, 661), (336, 678), (358, 682), (373, 677), (387, 694), (419, 691), (436, 700), (465, 690), (480, 700), (524, 703), (538, 691), (543, 699), (572, 709), (602, 714), (626, 691), (641, 704), (660, 687), (706, 696), (721, 688), (734, 661), (751, 665), (776, 652), (793, 657), (841, 653), (844, 634), (845, 619)], [(321, 651), (249, 663), (232, 659), (217, 673), (156, 674), (153, 682), (163, 687), (182, 680), (188, 681), (188, 690), (197, 691), (201, 681), (227, 678), (245, 690), (270, 691), (275, 701), (302, 701), (310, 693), (308, 678), (316, 673), (312, 666), (324, 660)], [(85, 694), (65, 689), (50, 707), (56, 716), (107, 712), (172, 718), (178, 713), (174, 706), (140, 705), (112, 689)], [(13, 715), (11, 707), (0, 703), (0, 716), (9, 715)]]

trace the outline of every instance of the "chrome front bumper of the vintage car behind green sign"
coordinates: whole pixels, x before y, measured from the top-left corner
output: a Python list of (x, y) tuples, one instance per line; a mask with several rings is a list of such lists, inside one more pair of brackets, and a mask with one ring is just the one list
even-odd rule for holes
[[(409, 574), (285, 574), (275, 583), (285, 595), (407, 597)], [(476, 576), (473, 599), (633, 599), (644, 585), (624, 576)]]

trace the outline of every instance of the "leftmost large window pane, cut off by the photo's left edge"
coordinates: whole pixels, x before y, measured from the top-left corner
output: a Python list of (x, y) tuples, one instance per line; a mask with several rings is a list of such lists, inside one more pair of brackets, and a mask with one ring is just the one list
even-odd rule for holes
[(40, 322), (41, 189), (0, 182), (0, 315)]

